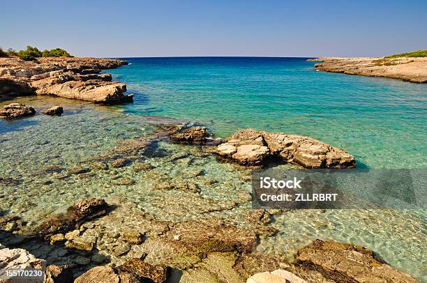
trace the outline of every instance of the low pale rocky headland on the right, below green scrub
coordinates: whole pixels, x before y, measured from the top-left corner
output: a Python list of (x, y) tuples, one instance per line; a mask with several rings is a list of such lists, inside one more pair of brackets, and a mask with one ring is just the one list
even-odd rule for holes
[(323, 72), (342, 72), (347, 75), (389, 77), (406, 82), (427, 83), (427, 58), (337, 58), (320, 57), (315, 69)]

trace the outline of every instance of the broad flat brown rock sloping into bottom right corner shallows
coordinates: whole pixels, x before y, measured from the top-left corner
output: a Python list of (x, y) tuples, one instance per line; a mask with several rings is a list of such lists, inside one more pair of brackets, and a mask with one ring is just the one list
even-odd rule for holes
[(302, 269), (316, 270), (334, 282), (418, 282), (376, 257), (372, 250), (333, 240), (315, 240), (300, 249), (296, 265)]

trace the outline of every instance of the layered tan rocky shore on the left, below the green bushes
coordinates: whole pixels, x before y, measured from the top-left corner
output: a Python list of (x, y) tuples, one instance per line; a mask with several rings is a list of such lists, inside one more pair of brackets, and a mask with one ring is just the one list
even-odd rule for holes
[(100, 70), (127, 65), (120, 59), (45, 57), (37, 62), (0, 58), (0, 95), (57, 95), (97, 103), (131, 102), (126, 84)]

